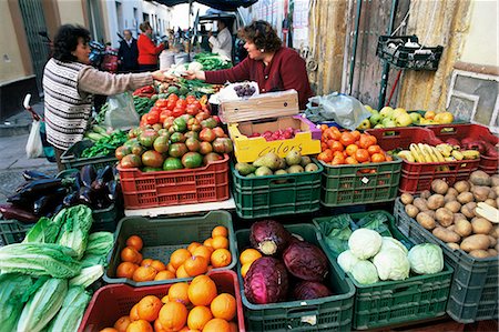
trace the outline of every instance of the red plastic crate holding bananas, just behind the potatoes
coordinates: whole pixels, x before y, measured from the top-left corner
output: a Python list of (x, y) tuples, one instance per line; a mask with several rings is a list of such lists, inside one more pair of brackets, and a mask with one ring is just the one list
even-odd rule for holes
[[(408, 162), (403, 161), (400, 192), (417, 193), (431, 188), (431, 181), (442, 179), (450, 185), (460, 180), (468, 180), (478, 169), (480, 160), (460, 160), (446, 162)], [(449, 170), (442, 171), (447, 167)]]

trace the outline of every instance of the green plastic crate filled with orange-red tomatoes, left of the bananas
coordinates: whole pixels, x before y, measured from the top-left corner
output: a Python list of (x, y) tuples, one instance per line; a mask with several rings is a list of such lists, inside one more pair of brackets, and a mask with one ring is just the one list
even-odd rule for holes
[(401, 162), (397, 157), (393, 161), (368, 164), (329, 165), (322, 162), (320, 203), (333, 208), (395, 200)]

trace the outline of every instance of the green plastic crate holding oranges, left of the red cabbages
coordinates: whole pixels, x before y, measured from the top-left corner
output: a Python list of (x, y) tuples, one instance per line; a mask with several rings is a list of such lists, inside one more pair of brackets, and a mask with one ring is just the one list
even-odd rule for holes
[(112, 252), (108, 258), (108, 270), (104, 281), (108, 283), (128, 283), (133, 286), (165, 284), (192, 280), (192, 278), (136, 282), (131, 279), (116, 278), (115, 271), (121, 263), (120, 253), (126, 247), (126, 239), (131, 235), (141, 237), (144, 242), (142, 255), (144, 259), (170, 261), (170, 254), (180, 248), (187, 248), (191, 242), (203, 242), (212, 237), (212, 230), (223, 225), (228, 230), (228, 247), (232, 262), (228, 266), (213, 269), (213, 271), (233, 270), (236, 264), (236, 244), (231, 214), (226, 211), (211, 211), (202, 217), (147, 219), (142, 217), (125, 217), (120, 220)]

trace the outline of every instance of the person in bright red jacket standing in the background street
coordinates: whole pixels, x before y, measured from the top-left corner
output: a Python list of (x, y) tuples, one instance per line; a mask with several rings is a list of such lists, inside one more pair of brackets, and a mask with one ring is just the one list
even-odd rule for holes
[(164, 50), (165, 44), (155, 46), (152, 41), (151, 24), (145, 21), (139, 27), (142, 33), (139, 36), (139, 71), (157, 70), (157, 56)]

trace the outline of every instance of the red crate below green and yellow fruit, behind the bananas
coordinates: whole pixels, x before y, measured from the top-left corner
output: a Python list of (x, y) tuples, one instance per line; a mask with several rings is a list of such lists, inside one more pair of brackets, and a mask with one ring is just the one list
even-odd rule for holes
[(385, 151), (394, 149), (408, 149), (410, 143), (437, 144), (435, 134), (426, 128), (379, 128), (369, 129), (366, 130), (366, 132), (376, 137), (378, 140), (378, 145)]

